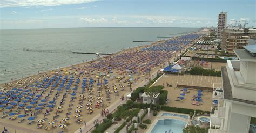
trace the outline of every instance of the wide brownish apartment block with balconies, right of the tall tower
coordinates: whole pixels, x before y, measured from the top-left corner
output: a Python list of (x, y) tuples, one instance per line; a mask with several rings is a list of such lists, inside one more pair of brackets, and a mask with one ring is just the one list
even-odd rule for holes
[[(223, 32), (221, 32), (221, 48), (222, 50), (230, 51), (231, 54), (233, 54), (233, 50), (228, 50), (229, 48), (229, 42), (228, 41), (237, 41), (237, 43), (233, 43), (233, 45), (238, 46), (244, 46), (248, 45), (249, 41), (246, 41), (245, 44), (245, 38), (241, 38), (241, 36), (248, 36), (248, 39), (256, 39), (256, 29), (224, 29)], [(237, 38), (237, 39), (235, 39)], [(240, 39), (239, 39), (240, 38)], [(242, 41), (242, 44), (239, 44), (239, 42)], [(241, 47), (237, 47), (241, 48)], [(232, 46), (231, 49), (234, 49)]]

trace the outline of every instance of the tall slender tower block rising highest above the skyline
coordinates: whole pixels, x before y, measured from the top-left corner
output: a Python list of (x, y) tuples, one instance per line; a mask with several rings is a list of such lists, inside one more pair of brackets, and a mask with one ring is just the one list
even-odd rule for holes
[(221, 32), (227, 25), (227, 12), (220, 12), (218, 16), (217, 39), (221, 38)]

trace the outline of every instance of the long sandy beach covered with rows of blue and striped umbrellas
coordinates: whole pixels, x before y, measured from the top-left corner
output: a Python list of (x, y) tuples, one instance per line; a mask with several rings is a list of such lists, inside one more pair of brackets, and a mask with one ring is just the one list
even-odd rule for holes
[[(172, 51), (142, 50), (163, 42), (0, 85), (1, 102), (6, 102), (1, 111), (0, 128), (11, 132), (76, 131), (84, 121), (89, 122), (132, 91), (130, 83), (136, 86), (151, 78), (150, 72), (158, 71), (175, 57)], [(179, 46), (177, 53), (185, 51), (182, 47)], [(104, 115), (107, 110), (105, 112)], [(65, 129), (59, 128), (60, 124)]]

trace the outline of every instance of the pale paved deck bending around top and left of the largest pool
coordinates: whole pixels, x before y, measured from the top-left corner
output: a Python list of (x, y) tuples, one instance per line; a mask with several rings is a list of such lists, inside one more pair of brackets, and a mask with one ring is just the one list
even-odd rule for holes
[[(178, 115), (186, 115), (186, 116), (188, 116), (188, 119), (185, 119), (185, 118), (179, 117), (179, 116), (162, 116), (163, 113), (171, 113), (171, 114), (178, 114)], [(156, 119), (154, 119), (154, 121), (152, 122), (152, 124), (150, 125), (150, 127), (146, 130), (146, 133), (151, 133), (151, 131), (153, 130), (154, 126), (157, 124), (158, 120), (176, 119), (176, 120), (185, 121), (185, 122), (187, 123), (187, 122), (190, 120), (189, 118), (190, 118), (190, 116), (189, 116), (188, 114), (161, 111), (160, 113), (158, 113)]]

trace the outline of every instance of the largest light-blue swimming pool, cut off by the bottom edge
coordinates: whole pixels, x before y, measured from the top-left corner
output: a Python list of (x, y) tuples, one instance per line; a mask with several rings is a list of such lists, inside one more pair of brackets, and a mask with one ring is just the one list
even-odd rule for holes
[(166, 133), (183, 133), (186, 126), (185, 121), (176, 119), (158, 120), (151, 133), (166, 132)]

